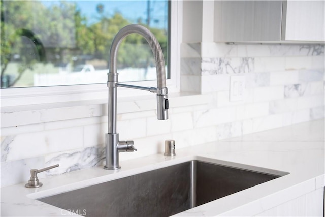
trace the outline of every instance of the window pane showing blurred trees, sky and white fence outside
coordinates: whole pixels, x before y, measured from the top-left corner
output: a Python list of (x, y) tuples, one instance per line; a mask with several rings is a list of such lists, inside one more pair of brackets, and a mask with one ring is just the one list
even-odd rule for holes
[[(111, 42), (123, 26), (153, 32), (169, 69), (167, 0), (1, 1), (1, 88), (105, 83)], [(127, 36), (117, 55), (119, 81), (155, 80), (149, 45)]]

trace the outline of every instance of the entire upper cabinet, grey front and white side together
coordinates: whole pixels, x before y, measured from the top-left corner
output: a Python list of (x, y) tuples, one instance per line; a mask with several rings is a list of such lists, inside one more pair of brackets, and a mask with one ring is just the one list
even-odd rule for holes
[(216, 42), (322, 42), (321, 1), (214, 1)]

